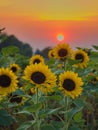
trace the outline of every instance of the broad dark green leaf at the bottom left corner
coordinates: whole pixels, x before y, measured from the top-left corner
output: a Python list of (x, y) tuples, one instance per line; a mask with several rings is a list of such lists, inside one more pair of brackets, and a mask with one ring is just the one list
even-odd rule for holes
[(0, 125), (1, 126), (9, 126), (13, 122), (15, 122), (15, 118), (7, 113), (4, 109), (0, 110)]

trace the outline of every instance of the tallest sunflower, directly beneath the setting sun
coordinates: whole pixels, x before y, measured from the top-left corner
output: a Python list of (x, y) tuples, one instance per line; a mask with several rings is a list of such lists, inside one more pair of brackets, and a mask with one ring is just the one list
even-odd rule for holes
[(71, 50), (69, 44), (67, 44), (67, 43), (58, 44), (54, 48), (54, 55), (55, 55), (55, 58), (64, 60), (69, 57), (69, 55), (71, 54), (71, 51), (72, 50)]

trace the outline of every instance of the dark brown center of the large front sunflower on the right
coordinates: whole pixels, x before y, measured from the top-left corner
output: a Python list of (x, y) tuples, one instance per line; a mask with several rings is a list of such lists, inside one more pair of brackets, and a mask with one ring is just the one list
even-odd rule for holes
[(75, 89), (75, 83), (71, 79), (65, 79), (63, 82), (63, 88), (67, 91), (73, 91)]

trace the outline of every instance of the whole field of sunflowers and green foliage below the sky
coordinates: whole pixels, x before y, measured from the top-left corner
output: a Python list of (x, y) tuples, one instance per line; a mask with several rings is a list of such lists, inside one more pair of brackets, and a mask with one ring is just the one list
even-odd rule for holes
[(2, 48), (0, 130), (98, 130), (98, 46), (60, 43), (48, 59)]

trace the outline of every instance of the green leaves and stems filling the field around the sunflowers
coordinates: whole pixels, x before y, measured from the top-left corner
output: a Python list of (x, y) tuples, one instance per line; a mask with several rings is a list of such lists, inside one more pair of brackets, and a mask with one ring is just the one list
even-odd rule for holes
[[(8, 39), (3, 36), (2, 44)], [(11, 36), (9, 41), (15, 40)], [(93, 48), (94, 50), (83, 48), (90, 52), (87, 68), (76, 68), (74, 64), (80, 61), (74, 61), (70, 57), (65, 61), (45, 59), (45, 64), (57, 76), (53, 92), (45, 94), (23, 79), (24, 69), (29, 65), (31, 55), (31, 52), (28, 54), (29, 45), (2, 46), (0, 68), (9, 67), (12, 63), (21, 67), (17, 74), (18, 88), (11, 94), (22, 96), (23, 102), (11, 103), (9, 95), (0, 95), (0, 128), (10, 130), (11, 125), (16, 123), (16, 130), (95, 130), (98, 127), (98, 46), (93, 45)], [(41, 52), (46, 58), (49, 49), (45, 48)], [(75, 99), (65, 96), (59, 89), (59, 75), (64, 71), (77, 73), (84, 82), (83, 92)], [(31, 93), (31, 88), (35, 89), (34, 93)]]

